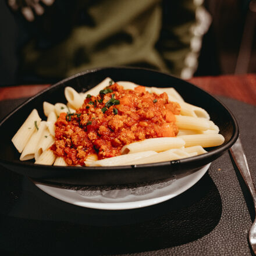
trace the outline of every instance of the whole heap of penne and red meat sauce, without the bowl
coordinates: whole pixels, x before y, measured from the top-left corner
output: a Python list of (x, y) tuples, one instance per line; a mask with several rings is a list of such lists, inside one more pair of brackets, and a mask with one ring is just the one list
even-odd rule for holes
[[(115, 95), (122, 94), (123, 90), (126, 90), (127, 94), (123, 93), (125, 96), (116, 98)], [(135, 96), (142, 95), (145, 98), (145, 101), (136, 103), (139, 111), (142, 111), (140, 115), (144, 115), (145, 120), (138, 120), (130, 126), (129, 115), (131, 113), (134, 115), (137, 110), (127, 111), (134, 104), (132, 103), (134, 99), (129, 98), (129, 93)], [(77, 93), (72, 87), (66, 87), (65, 97), (66, 104), (43, 103), (46, 121), (41, 121), (37, 110), (33, 109), (13, 136), (13, 144), (22, 153), (21, 161), (34, 158), (37, 164), (54, 166), (138, 165), (205, 154), (207, 151), (204, 148), (215, 147), (225, 141), (225, 138), (219, 134), (219, 127), (210, 120), (207, 111), (185, 102), (174, 88), (143, 87), (130, 81), (114, 83), (107, 77), (86, 93)], [(158, 101), (162, 103), (158, 105)], [(98, 105), (99, 109), (96, 108)], [(152, 112), (148, 110), (149, 106), (152, 108), (158, 106), (159, 111)], [(77, 112), (76, 109), (82, 112)], [(108, 129), (102, 125), (105, 122), (102, 118), (106, 111), (109, 113), (107, 115), (109, 118), (105, 116)], [(119, 111), (130, 113), (127, 120), (119, 115)], [(81, 115), (83, 119), (80, 118)], [(160, 115), (164, 120), (162, 126), (155, 121), (157, 120), (154, 119), (155, 115)], [(147, 119), (151, 121), (148, 122)], [(98, 126), (96, 121), (99, 123)], [(124, 122), (130, 130), (122, 134)], [(62, 123), (66, 124), (63, 129)], [(73, 123), (77, 123), (77, 127), (72, 126)], [(93, 129), (94, 126), (98, 127), (97, 134)], [(85, 131), (88, 129), (86, 137), (79, 137), (81, 127), (85, 127)], [(101, 136), (103, 138), (107, 132), (112, 132), (113, 135), (120, 134), (120, 137), (113, 137), (108, 144), (108, 147), (114, 149), (119, 147), (120, 151), (113, 150), (112, 153), (105, 146), (105, 151), (102, 148), (99, 154), (97, 147), (94, 147), (98, 145), (101, 148), (104, 141), (100, 138)], [(134, 139), (135, 132), (138, 136), (137, 140)], [(96, 139), (98, 144), (94, 144), (94, 147), (90, 146), (90, 141), (96, 141)], [(89, 148), (91, 151), (86, 155), (85, 151)], [(68, 154), (78, 160), (67, 158)]]

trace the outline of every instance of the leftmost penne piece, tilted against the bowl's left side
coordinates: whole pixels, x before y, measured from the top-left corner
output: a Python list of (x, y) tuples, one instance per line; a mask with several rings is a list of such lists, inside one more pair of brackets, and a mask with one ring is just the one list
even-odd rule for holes
[(17, 151), (20, 153), (23, 151), (24, 147), (30, 140), (30, 137), (34, 133), (36, 126), (38, 126), (40, 122), (41, 118), (38, 115), (37, 110), (33, 109), (26, 121), (12, 138), (12, 143), (15, 145)]

